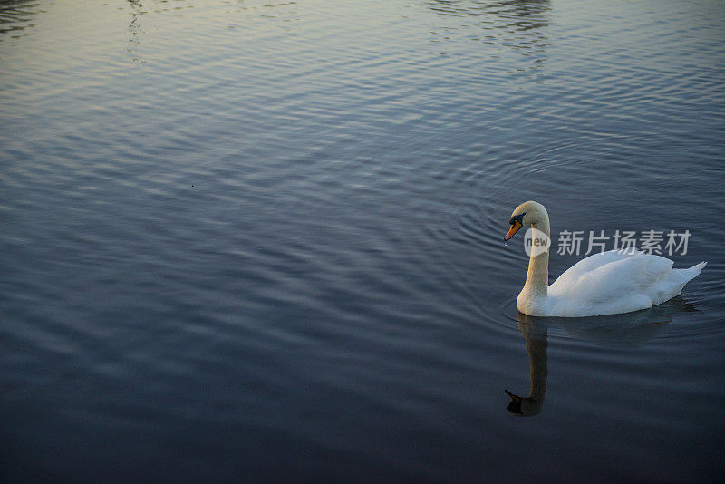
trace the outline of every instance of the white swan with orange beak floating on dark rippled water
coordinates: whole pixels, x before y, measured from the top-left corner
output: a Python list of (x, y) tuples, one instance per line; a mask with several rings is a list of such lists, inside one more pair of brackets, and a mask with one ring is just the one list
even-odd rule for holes
[[(551, 237), (546, 208), (535, 201), (519, 205), (508, 223), (511, 227), (504, 240), (524, 226)], [(707, 265), (701, 262), (689, 269), (673, 269), (672, 260), (665, 257), (633, 248), (610, 250), (585, 257), (547, 286), (549, 253), (536, 252), (531, 252), (527, 282), (516, 300), (518, 310), (530, 316), (583, 317), (647, 309), (679, 295)]]

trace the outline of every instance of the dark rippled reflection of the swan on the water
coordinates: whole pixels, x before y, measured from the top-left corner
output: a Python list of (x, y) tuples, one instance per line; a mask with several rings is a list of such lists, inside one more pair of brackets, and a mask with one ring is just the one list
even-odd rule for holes
[(675, 313), (690, 311), (696, 311), (694, 305), (686, 303), (678, 295), (662, 305), (623, 315), (554, 318), (517, 313), (518, 329), (526, 340), (531, 386), (527, 397), (504, 390), (511, 399), (508, 411), (517, 416), (533, 417), (544, 406), (548, 376), (546, 350), (550, 326), (558, 325), (575, 338), (599, 346), (633, 348), (659, 333), (663, 324), (672, 322), (672, 315)]

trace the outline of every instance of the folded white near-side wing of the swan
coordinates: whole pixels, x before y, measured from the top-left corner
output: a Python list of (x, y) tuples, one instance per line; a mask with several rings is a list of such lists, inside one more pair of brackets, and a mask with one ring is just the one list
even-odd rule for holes
[[(652, 286), (672, 272), (672, 260), (642, 252), (586, 257), (549, 287), (550, 294), (588, 305), (620, 300), (644, 299), (652, 305)], [(588, 259), (594, 259), (589, 261)], [(571, 273), (570, 273), (571, 271)], [(616, 303), (614, 303), (616, 304)]]

